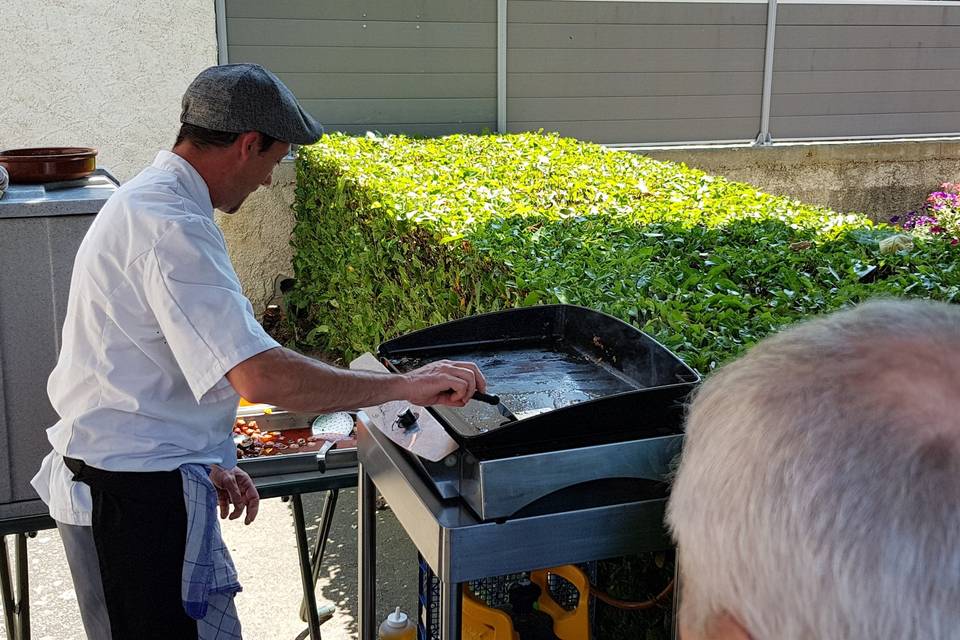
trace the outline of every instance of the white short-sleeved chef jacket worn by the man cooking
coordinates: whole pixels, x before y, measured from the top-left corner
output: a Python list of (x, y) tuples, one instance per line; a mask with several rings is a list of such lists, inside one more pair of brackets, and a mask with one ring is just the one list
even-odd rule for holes
[(243, 296), (206, 183), (161, 151), (107, 201), (77, 252), (47, 383), (60, 421), (33, 479), (51, 516), (90, 524), (89, 487), (63, 456), (109, 471), (235, 466), (239, 396), (225, 374), (278, 346)]

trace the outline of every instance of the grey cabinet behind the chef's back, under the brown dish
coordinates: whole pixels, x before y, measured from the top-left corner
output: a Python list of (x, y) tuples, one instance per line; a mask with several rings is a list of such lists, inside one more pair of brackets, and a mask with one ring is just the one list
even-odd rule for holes
[[(0, 521), (42, 515), (30, 479), (58, 416), (47, 400), (73, 260), (117, 183), (98, 172), (74, 186), (11, 185), (0, 198)], [(59, 188), (57, 188), (59, 187)]]

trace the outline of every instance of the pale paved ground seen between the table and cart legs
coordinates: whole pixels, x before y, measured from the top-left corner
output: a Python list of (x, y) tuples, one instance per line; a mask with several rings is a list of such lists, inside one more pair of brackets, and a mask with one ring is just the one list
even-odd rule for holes
[[(305, 496), (308, 535), (316, 535), (322, 495)], [(257, 521), (223, 525), (244, 590), (237, 607), (248, 640), (294, 640), (306, 629), (300, 621), (300, 573), (293, 515), (280, 499), (265, 500)], [(416, 615), (416, 550), (389, 509), (378, 514), (378, 617), (399, 605)], [(84, 640), (70, 571), (56, 531), (42, 531), (28, 543), (32, 638)], [(357, 637), (357, 498), (341, 491), (324, 570), (317, 584), (319, 605), (337, 612), (322, 627), (324, 640)], [(7, 636), (0, 624), (0, 639)]]

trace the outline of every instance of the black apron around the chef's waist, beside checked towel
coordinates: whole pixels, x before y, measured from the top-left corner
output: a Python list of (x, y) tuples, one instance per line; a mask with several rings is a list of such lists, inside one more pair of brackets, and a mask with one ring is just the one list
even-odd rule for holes
[(187, 510), (180, 471), (104, 471), (64, 460), (93, 497), (113, 640), (196, 640), (197, 623), (181, 599)]

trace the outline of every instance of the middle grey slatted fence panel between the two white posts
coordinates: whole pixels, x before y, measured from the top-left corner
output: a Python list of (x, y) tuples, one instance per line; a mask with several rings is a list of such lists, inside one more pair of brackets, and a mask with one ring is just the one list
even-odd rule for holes
[(511, 0), (510, 131), (611, 143), (750, 140), (766, 5)]

